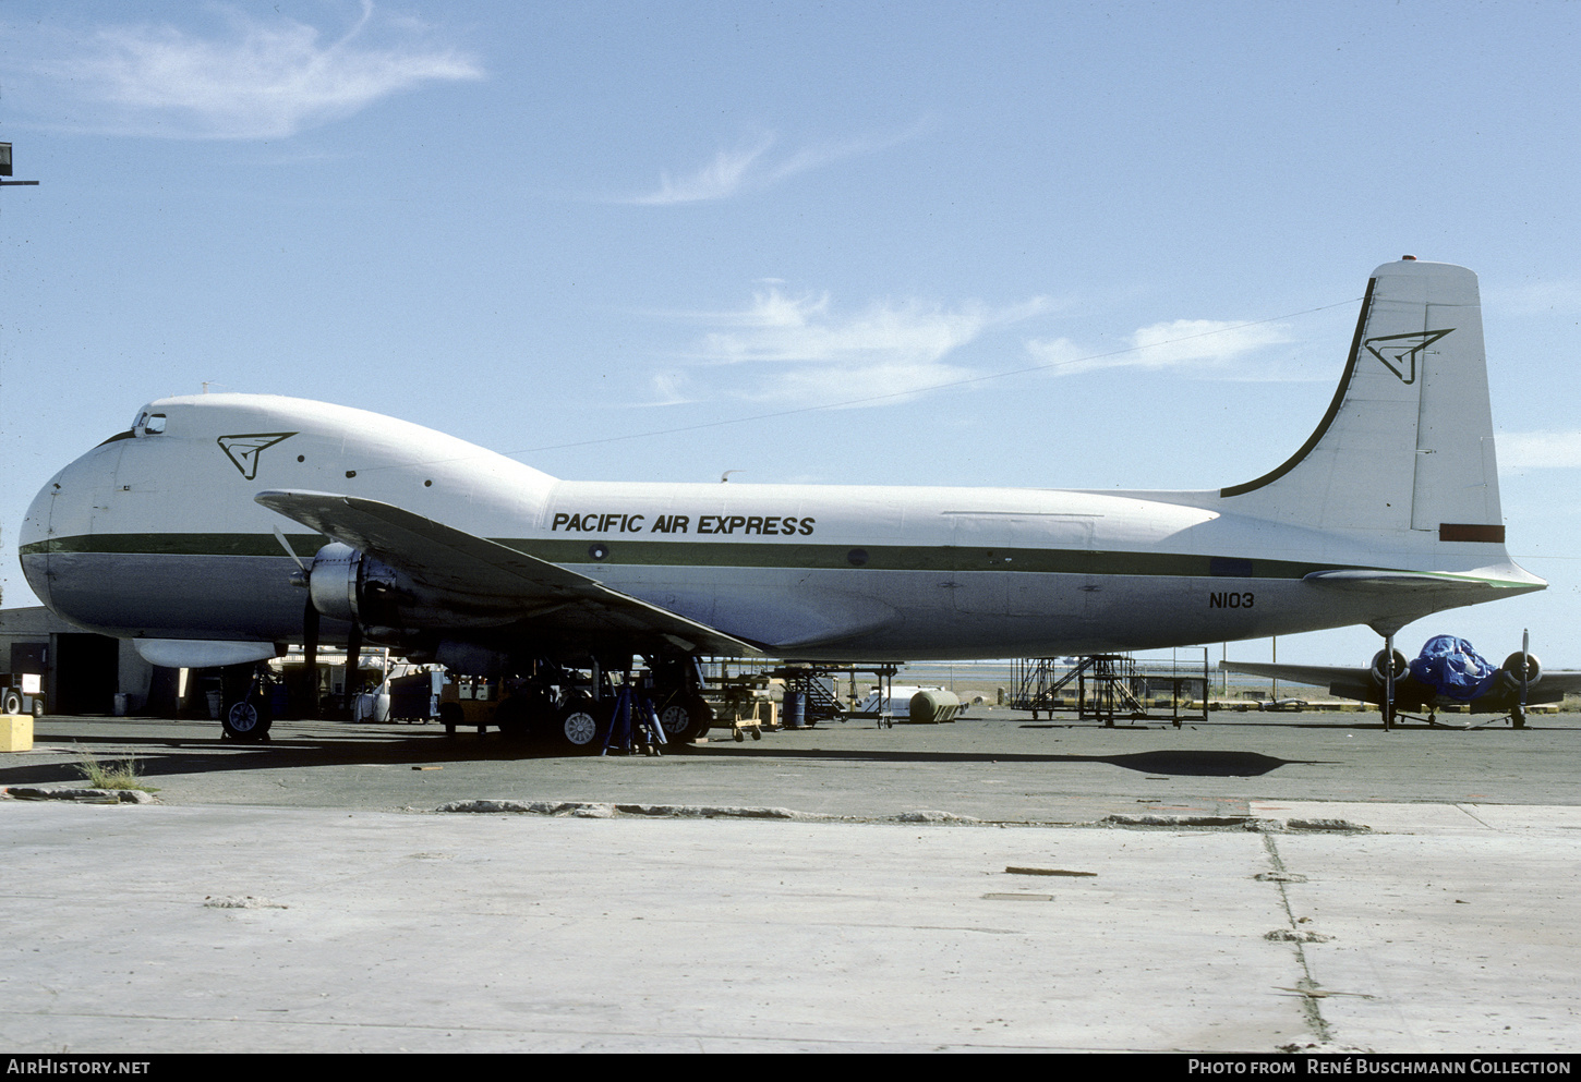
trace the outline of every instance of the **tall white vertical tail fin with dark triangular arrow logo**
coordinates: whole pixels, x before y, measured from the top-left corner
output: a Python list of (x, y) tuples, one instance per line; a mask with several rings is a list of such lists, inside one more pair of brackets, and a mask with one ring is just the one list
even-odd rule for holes
[(1289, 461), (1219, 493), (1236, 512), (1401, 540), (1504, 542), (1477, 275), (1372, 272), (1345, 374)]

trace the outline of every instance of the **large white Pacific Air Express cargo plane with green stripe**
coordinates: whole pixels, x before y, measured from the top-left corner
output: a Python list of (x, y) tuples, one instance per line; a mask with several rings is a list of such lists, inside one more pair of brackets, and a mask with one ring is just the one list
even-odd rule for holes
[[(157, 665), (378, 643), (550, 673), (528, 720), (569, 746), (634, 656), (685, 734), (705, 656), (1048, 657), (1352, 624), (1393, 651), (1418, 618), (1546, 586), (1505, 551), (1477, 276), (1412, 256), (1372, 272), (1306, 442), (1224, 488), (560, 480), (406, 420), (221, 393), (139, 409), (44, 485), (19, 542), (44, 605)], [(568, 665), (591, 697), (566, 701)], [(223, 723), (267, 733), (245, 697)]]

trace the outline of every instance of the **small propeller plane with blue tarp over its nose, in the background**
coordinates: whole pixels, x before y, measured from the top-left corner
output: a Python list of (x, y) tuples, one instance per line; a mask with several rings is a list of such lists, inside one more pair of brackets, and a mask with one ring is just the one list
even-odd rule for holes
[[(1393, 657), (1393, 671), (1388, 659)], [(1581, 673), (1545, 671), (1530, 651), (1527, 635), (1521, 649), (1494, 665), (1464, 638), (1434, 635), (1409, 663), (1399, 651), (1379, 651), (1371, 665), (1282, 665), (1279, 662), (1219, 662), (1227, 673), (1270, 676), (1293, 684), (1326, 687), (1330, 695), (1372, 703), (1383, 712), (1383, 727), (1407, 711), (1426, 711), (1429, 725), (1447, 706), (1466, 706), (1472, 714), (1496, 714), (1511, 727), (1526, 728), (1526, 709), (1557, 703), (1565, 693), (1581, 692)], [(1390, 687), (1393, 684), (1393, 689)]]

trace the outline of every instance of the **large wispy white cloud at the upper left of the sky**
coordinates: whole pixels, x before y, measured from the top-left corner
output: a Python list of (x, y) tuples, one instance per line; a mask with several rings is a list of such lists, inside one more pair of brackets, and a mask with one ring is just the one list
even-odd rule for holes
[(81, 125), (183, 139), (285, 137), (425, 82), (482, 77), (474, 58), (430, 41), (425, 27), (378, 19), (372, 0), (334, 41), (292, 19), (221, 11), (228, 27), (215, 36), (101, 27), (84, 54), (49, 68), (63, 93), (85, 100)]

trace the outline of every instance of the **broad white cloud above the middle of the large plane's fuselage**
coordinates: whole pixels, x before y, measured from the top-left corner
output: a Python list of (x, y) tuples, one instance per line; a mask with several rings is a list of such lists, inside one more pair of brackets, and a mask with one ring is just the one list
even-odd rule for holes
[[(792, 404), (876, 404), (912, 398), (930, 387), (972, 379), (972, 368), (949, 360), (983, 333), (1053, 308), (1042, 297), (994, 308), (968, 302), (955, 308), (917, 300), (876, 302), (840, 313), (828, 294), (757, 292), (734, 311), (692, 314), (713, 324), (688, 357), (707, 365), (715, 393)], [(686, 374), (656, 387), (680, 396)]]

